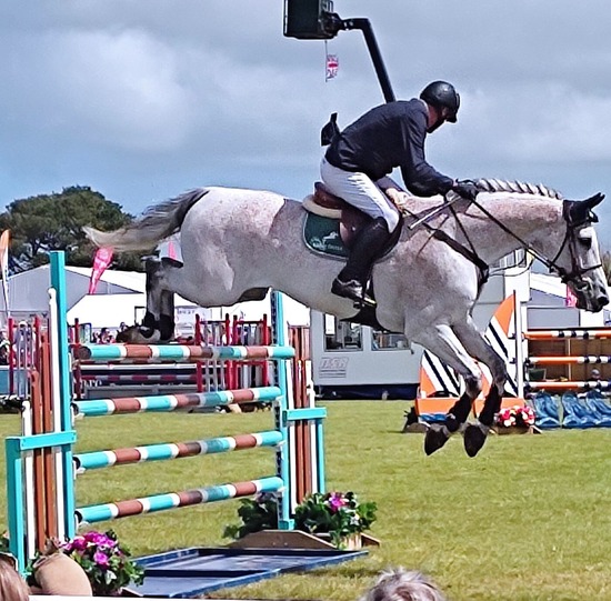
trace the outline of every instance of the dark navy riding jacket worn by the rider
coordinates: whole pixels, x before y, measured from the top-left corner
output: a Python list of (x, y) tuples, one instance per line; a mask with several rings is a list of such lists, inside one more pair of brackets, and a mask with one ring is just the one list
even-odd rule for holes
[(373, 181), (399, 167), (413, 194), (444, 194), (453, 180), (424, 159), (427, 118), (427, 106), (418, 99), (381, 104), (335, 136), (325, 158), (338, 169), (360, 171)]

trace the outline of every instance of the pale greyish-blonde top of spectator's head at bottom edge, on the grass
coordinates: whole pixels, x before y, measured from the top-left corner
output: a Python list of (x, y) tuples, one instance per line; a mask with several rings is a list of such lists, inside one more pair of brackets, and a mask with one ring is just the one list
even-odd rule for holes
[(418, 571), (384, 571), (360, 601), (447, 601), (437, 584)]

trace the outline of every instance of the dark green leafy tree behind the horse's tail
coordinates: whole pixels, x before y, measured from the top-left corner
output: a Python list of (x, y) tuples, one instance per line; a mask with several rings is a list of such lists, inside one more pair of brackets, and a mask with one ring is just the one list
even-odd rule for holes
[[(106, 200), (84, 186), (64, 188), (60, 193), (19, 199), (0, 214), (2, 230), (11, 230), (12, 270), (23, 271), (49, 262), (49, 251), (63, 250), (70, 266), (91, 267), (94, 248), (82, 232), (83, 226), (114, 230), (132, 221), (121, 206)], [(123, 253), (113, 267), (141, 270), (140, 257)]]

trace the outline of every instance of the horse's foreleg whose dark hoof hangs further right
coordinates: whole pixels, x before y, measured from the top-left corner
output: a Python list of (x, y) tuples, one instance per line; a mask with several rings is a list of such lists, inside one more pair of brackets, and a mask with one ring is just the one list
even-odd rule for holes
[(504, 360), (488, 343), (485, 338), (468, 319), (467, 323), (454, 328), (467, 351), (475, 359), (489, 367), (492, 374), (490, 391), (485, 397), (483, 408), (475, 423), (464, 430), (464, 450), (469, 457), (475, 457), (483, 447), (490, 428), (494, 423), (494, 415), (500, 411), (503, 390), (508, 378)]

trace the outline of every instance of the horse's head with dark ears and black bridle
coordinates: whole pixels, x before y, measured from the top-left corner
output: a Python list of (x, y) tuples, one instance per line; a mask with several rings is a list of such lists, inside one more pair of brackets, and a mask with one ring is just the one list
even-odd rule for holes
[(587, 311), (601, 311), (609, 304), (607, 278), (602, 269), (597, 232), (592, 223), (598, 221), (592, 209), (602, 202), (598, 193), (587, 200), (564, 200), (562, 214), (567, 222), (567, 236), (551, 267), (577, 298), (577, 307)]

